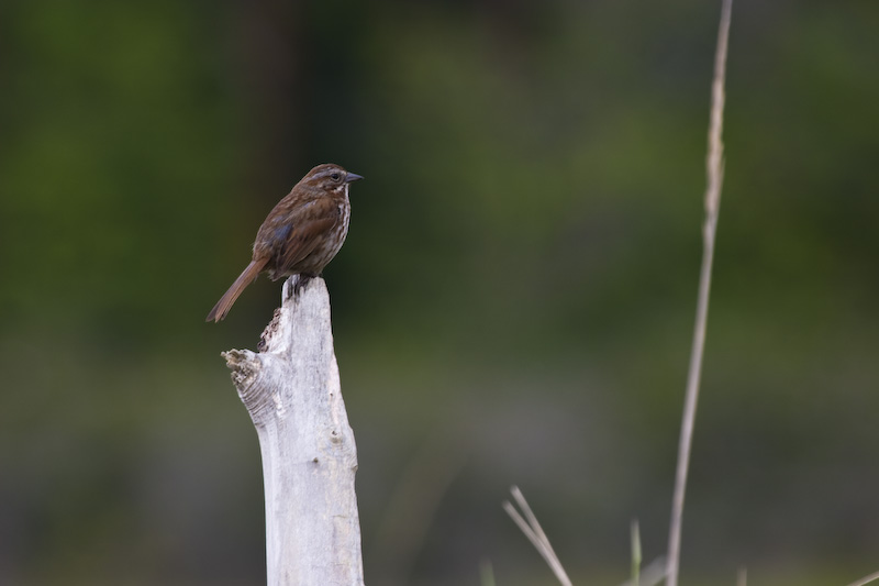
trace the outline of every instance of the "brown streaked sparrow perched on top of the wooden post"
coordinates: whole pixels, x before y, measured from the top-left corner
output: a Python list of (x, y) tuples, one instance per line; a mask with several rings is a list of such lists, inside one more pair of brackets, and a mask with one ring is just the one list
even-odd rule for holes
[(348, 186), (357, 179), (363, 177), (338, 165), (318, 165), (296, 184), (259, 226), (253, 261), (205, 321), (225, 318), (244, 288), (264, 270), (271, 280), (296, 274), (320, 275), (348, 234)]

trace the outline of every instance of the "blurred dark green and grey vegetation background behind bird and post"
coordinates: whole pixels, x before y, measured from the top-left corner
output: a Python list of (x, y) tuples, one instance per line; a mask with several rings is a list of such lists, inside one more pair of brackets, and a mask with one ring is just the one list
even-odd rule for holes
[[(0, 4), (0, 583), (264, 579), (218, 354), (279, 286), (203, 317), (324, 162), (367, 177), (325, 272), (367, 582), (552, 584), (513, 483), (576, 583), (625, 579), (633, 517), (663, 553), (717, 12)], [(878, 21), (734, 8), (683, 582), (877, 568)]]

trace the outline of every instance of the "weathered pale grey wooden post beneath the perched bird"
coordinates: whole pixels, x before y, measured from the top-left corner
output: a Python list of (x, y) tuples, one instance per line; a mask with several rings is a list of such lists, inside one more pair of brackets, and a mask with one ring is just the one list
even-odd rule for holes
[(364, 584), (357, 449), (322, 278), (283, 285), (259, 352), (223, 353), (259, 436), (270, 586)]

